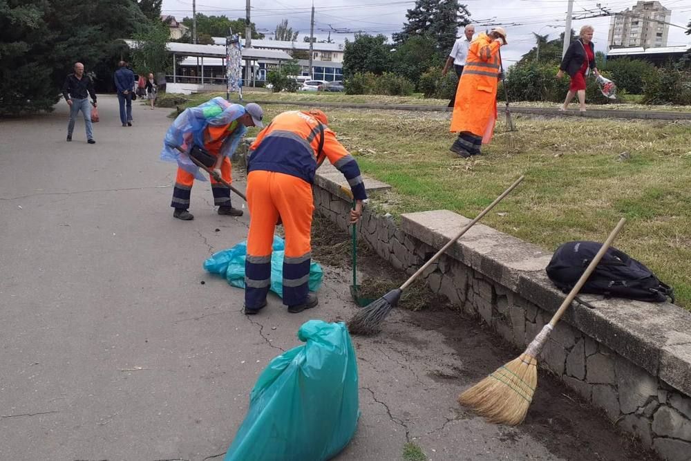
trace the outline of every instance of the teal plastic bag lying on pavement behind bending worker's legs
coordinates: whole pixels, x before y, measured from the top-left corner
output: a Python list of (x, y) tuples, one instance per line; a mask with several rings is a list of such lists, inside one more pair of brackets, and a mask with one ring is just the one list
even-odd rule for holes
[[(271, 287), (270, 290), (283, 298), (283, 256), (285, 241), (274, 236), (271, 254)], [(228, 250), (221, 250), (204, 261), (204, 268), (212, 274), (225, 276), (228, 283), (237, 288), (245, 288), (245, 258), (247, 258), (247, 241), (238, 243)], [(310, 263), (310, 280), (307, 285), (311, 292), (321, 287), (323, 271), (318, 263)]]

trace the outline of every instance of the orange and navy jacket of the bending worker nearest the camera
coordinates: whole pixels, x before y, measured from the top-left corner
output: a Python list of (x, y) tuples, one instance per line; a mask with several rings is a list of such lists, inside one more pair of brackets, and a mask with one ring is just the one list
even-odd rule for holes
[[(320, 125), (323, 134), (319, 129)], [(322, 139), (323, 148), (319, 152)], [(314, 172), (324, 158), (328, 158), (345, 176), (354, 198), (367, 198), (360, 168), (355, 159), (345, 150), (328, 126), (303, 111), (279, 113), (257, 135), (249, 147), (247, 173), (256, 170), (276, 171), (312, 184)]]

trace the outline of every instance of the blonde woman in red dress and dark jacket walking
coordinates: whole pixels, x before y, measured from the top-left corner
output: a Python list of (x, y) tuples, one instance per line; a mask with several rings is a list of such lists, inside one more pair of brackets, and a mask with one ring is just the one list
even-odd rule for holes
[(560, 111), (566, 111), (569, 102), (574, 99), (575, 95), (578, 95), (580, 112), (585, 112), (585, 77), (590, 70), (595, 75), (599, 75), (598, 68), (595, 66), (595, 46), (592, 42), (594, 31), (593, 26), (580, 28), (580, 37), (569, 46), (559, 66), (557, 78), (563, 77), (564, 73), (571, 77), (569, 93), (567, 93)]

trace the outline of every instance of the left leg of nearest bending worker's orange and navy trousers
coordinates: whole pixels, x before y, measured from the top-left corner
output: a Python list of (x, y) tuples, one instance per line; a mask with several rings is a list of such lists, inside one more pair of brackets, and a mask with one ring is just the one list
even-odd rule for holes
[(271, 252), (278, 211), (270, 191), (269, 171), (252, 171), (247, 175), (249, 234), (245, 259), (245, 307), (263, 305), (271, 285)]

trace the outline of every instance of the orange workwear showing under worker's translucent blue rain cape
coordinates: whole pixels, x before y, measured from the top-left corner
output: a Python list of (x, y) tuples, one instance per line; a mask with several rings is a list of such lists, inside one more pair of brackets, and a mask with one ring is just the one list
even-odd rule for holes
[[(211, 155), (218, 156), (220, 148), (223, 146), (223, 141), (225, 141), (237, 127), (237, 120), (233, 120), (229, 124), (223, 126), (207, 126), (207, 128), (204, 129), (204, 148), (207, 149)], [(230, 159), (225, 157), (220, 164), (220, 176), (227, 182), (231, 182), (232, 171), (233, 168)], [(211, 191), (214, 193), (214, 205), (220, 207), (231, 206), (230, 189), (220, 182), (216, 182), (213, 176), (210, 176), (210, 179)], [(178, 167), (178, 176), (176, 176), (175, 187), (173, 187), (171, 207), (181, 209), (189, 208), (189, 196), (192, 191), (193, 182), (194, 175)]]

